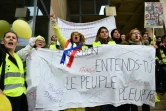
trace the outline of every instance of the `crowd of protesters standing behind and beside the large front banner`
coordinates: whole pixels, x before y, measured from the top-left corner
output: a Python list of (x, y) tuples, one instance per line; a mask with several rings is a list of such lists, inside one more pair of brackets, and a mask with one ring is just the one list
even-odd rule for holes
[[(147, 45), (156, 49), (156, 91), (164, 94), (166, 92), (166, 35), (157, 36), (153, 41), (147, 31), (141, 33), (137, 28), (132, 29), (128, 34), (121, 34), (118, 29), (113, 29), (109, 36), (106, 27), (100, 27), (96, 34), (96, 39), (91, 46), (85, 44), (85, 37), (80, 32), (72, 32), (69, 40), (63, 37), (60, 28), (56, 24), (55, 16), (51, 16), (52, 27), (55, 35), (51, 37), (51, 42), (46, 45), (44, 37), (37, 36), (29, 40), (29, 44), (15, 52), (18, 45), (18, 36), (10, 31), (4, 34), (0, 45), (0, 94), (6, 95), (9, 99), (13, 111), (28, 111), (26, 98), (26, 75), (25, 62), (32, 49), (45, 48), (51, 50), (69, 49), (78, 47), (79, 50), (86, 50), (89, 47), (97, 47), (102, 44), (108, 45)], [(57, 41), (60, 45), (57, 45)], [(111, 104), (99, 106), (100, 111), (138, 111), (138, 106), (125, 104), (115, 107)], [(86, 108), (71, 108), (66, 111), (85, 111)], [(142, 105), (143, 111), (150, 111), (150, 106)]]

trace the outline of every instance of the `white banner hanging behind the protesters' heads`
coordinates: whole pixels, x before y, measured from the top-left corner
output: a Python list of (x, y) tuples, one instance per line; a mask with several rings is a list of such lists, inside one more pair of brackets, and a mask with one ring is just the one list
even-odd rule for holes
[(109, 34), (113, 29), (116, 28), (114, 16), (88, 23), (73, 23), (58, 18), (58, 25), (66, 39), (70, 38), (70, 35), (73, 31), (78, 31), (85, 36), (86, 44), (92, 44), (92, 42), (95, 41), (97, 31), (100, 27), (107, 27)]

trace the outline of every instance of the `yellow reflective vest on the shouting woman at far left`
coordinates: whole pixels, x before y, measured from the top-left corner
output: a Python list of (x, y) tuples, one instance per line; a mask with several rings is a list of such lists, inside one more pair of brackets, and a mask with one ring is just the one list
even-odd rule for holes
[[(14, 53), (14, 57), (19, 68), (8, 57), (9, 54), (6, 54), (3, 92), (9, 97), (18, 97), (23, 93), (26, 94), (23, 63), (16, 53)], [(2, 66), (0, 67), (0, 72), (2, 72)]]

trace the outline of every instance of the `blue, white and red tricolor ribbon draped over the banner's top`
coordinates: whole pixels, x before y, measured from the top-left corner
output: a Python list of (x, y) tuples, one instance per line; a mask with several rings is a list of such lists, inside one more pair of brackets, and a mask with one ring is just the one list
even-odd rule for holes
[(77, 53), (77, 51), (81, 50), (82, 43), (79, 43), (76, 47), (74, 47), (74, 43), (68, 40), (65, 45), (65, 50), (63, 51), (63, 55), (61, 58), (60, 64), (67, 64), (67, 67), (71, 67), (74, 56)]

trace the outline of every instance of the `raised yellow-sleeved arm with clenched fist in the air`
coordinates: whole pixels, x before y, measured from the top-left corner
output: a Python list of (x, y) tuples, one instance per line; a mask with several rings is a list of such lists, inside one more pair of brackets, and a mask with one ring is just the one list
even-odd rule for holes
[(62, 35), (62, 33), (60, 31), (60, 28), (59, 28), (59, 26), (56, 23), (56, 18), (55, 18), (55, 14), (54, 13), (50, 15), (50, 19), (51, 19), (52, 28), (54, 30), (54, 33), (57, 36), (57, 40), (60, 43), (61, 47), (64, 49), (67, 40)]

